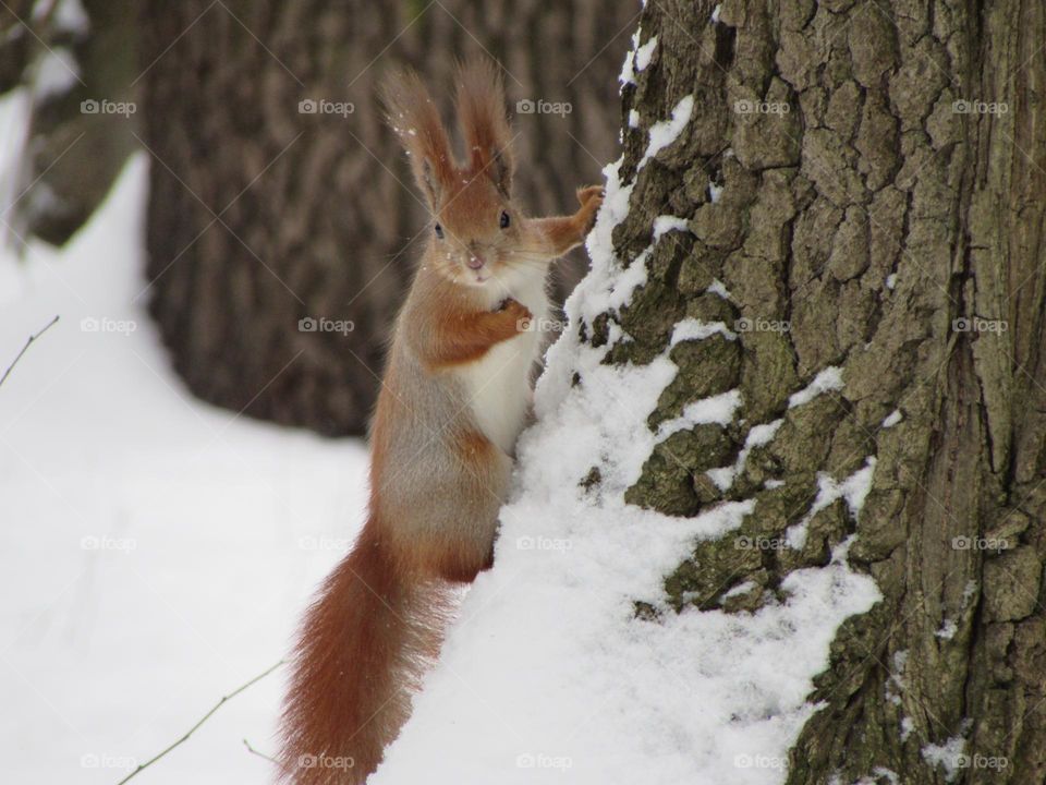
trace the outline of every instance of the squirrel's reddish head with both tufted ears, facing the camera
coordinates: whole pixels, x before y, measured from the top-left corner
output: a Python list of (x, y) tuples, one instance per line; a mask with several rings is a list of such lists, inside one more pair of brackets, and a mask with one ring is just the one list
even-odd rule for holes
[(428, 206), (438, 271), (458, 283), (485, 286), (525, 264), (515, 253), (523, 216), (511, 201), (512, 138), (496, 67), (474, 59), (458, 69), (465, 165), (451, 152), (439, 111), (415, 73), (390, 78), (385, 104)]

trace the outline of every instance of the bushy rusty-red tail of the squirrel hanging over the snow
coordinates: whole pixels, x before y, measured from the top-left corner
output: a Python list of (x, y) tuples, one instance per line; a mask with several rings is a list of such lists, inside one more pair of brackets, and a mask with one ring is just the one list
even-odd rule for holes
[(445, 591), (405, 571), (367, 523), (302, 626), (283, 708), (283, 782), (356, 785), (377, 769), (438, 651)]

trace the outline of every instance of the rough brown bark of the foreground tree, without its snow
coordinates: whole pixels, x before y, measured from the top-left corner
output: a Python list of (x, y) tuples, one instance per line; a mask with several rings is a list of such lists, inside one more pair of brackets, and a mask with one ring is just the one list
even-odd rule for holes
[[(658, 243), (648, 283), (588, 336), (600, 343), (619, 324), (632, 340), (610, 359), (644, 363), (684, 316), (739, 328), (737, 341), (672, 348), (680, 374), (652, 426), (731, 389), (739, 418), (659, 445), (628, 498), (680, 516), (755, 499), (743, 533), (766, 546), (705, 543), (666, 591), (679, 608), (746, 613), (855, 535), (851, 564), (883, 600), (838, 631), (788, 783), (887, 783), (885, 770), (905, 785), (1044, 782), (1046, 10), (711, 10), (650, 0), (643, 12), (640, 43), (658, 44), (624, 88), (638, 123), (622, 123), (621, 174), (635, 186), (615, 244), (635, 258), (661, 214), (686, 218), (690, 234)], [(693, 120), (637, 171), (648, 129), (686, 95)], [(708, 293), (716, 279), (729, 301)], [(842, 389), (789, 408), (828, 366)], [(705, 472), (777, 419), (719, 491)], [(855, 520), (840, 499), (813, 515), (802, 547), (781, 543), (815, 511), (819, 476), (842, 481), (868, 458)], [(949, 739), (971, 756), (951, 772), (923, 754)]]

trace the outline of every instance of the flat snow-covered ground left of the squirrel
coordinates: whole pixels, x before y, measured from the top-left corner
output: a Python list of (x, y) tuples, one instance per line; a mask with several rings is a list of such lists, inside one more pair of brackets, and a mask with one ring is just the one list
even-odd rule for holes
[[(0, 138), (22, 100), (0, 104)], [(169, 370), (138, 297), (146, 185), (139, 156), (68, 249), (0, 252), (0, 373), (61, 316), (0, 387), (4, 783), (114, 785), (284, 654), (362, 522), (360, 442), (236, 418)], [(242, 739), (273, 751), (281, 686), (243, 692), (134, 782), (269, 782)]]

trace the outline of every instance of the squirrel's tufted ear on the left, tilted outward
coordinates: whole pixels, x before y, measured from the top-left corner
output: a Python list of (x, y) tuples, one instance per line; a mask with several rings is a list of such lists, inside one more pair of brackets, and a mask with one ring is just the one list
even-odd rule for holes
[(454, 181), (455, 161), (439, 110), (413, 71), (393, 73), (381, 90), (386, 121), (400, 137), (411, 170), (433, 212)]

